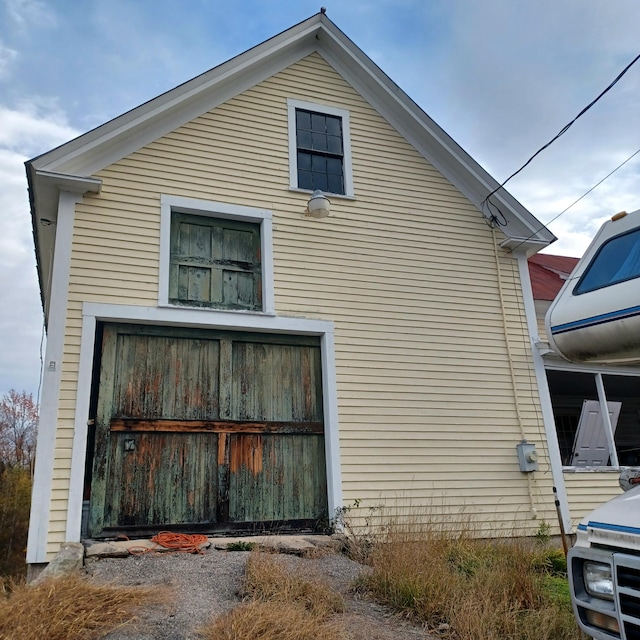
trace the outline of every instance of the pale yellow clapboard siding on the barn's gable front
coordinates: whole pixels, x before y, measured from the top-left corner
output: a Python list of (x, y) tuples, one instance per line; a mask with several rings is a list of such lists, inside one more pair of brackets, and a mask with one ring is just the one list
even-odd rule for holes
[[(308, 194), (288, 188), (288, 97), (350, 110), (356, 199), (333, 198), (326, 220), (305, 218)], [(157, 304), (163, 193), (273, 212), (278, 313), (335, 322), (345, 496), (369, 487), (367, 495), (423, 502), (447, 488), (451, 504), (481, 509), (491, 526), (495, 514), (505, 523), (526, 517), (490, 230), (320, 56), (98, 177), (102, 192), (76, 214), (50, 546), (66, 518), (81, 306)], [(524, 428), (540, 441), (518, 269), (508, 255), (501, 268)], [(460, 469), (471, 467), (478, 482), (467, 484)], [(539, 513), (549, 512), (549, 482), (534, 485)]]

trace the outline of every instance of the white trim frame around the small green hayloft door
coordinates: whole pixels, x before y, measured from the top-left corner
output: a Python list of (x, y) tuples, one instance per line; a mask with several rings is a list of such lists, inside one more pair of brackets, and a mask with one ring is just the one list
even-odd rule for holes
[[(169, 302), (169, 265), (171, 258), (171, 214), (190, 213), (225, 220), (253, 222), (260, 225), (260, 250), (262, 269), (262, 311), (223, 310), (215, 308), (189, 307), (189, 305), (173, 305)], [(160, 274), (158, 290), (159, 307), (175, 307), (180, 309), (197, 308), (204, 313), (219, 311), (224, 313), (267, 314), (275, 315), (275, 295), (273, 286), (273, 222), (272, 213), (268, 209), (243, 207), (226, 202), (213, 202), (197, 198), (181, 196), (160, 196)]]

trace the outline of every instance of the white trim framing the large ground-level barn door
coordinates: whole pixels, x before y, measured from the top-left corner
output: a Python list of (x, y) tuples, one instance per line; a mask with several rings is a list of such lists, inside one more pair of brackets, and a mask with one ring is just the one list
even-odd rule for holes
[(340, 438), (338, 424), (338, 391), (336, 377), (334, 326), (330, 320), (307, 318), (268, 317), (265, 315), (231, 316), (224, 311), (209, 314), (199, 309), (162, 309), (129, 305), (85, 302), (82, 305), (82, 334), (78, 368), (75, 430), (71, 452), (71, 478), (67, 510), (66, 539), (80, 541), (82, 522), (82, 494), (87, 449), (87, 416), (91, 402), (91, 376), (93, 371), (96, 324), (125, 322), (165, 326), (198, 327), (228, 331), (256, 331), (320, 337), (322, 357), (322, 399), (324, 411), (324, 439), (327, 469), (327, 498), (329, 517), (333, 518), (342, 503), (342, 476), (340, 467)]

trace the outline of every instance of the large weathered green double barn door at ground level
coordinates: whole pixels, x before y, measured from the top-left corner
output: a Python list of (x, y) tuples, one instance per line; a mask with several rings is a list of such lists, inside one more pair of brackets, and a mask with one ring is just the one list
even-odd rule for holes
[(317, 338), (105, 326), (90, 535), (327, 515)]

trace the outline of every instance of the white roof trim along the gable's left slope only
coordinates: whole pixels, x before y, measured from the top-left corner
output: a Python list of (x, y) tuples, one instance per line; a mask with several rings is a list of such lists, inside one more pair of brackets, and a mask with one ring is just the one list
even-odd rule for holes
[(314, 18), (35, 158), (33, 164), (71, 174), (96, 173), (315, 51), (322, 26)]

